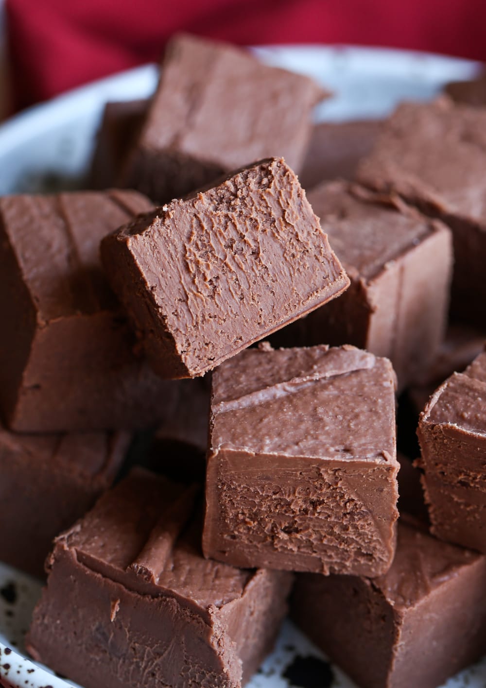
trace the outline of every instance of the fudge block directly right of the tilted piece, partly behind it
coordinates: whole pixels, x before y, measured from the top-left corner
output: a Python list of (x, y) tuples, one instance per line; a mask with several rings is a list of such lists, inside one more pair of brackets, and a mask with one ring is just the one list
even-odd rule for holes
[(399, 198), (348, 182), (321, 184), (308, 200), (351, 286), (274, 341), (352, 344), (392, 361), (399, 389), (421, 378), (442, 341), (452, 238), (441, 222)]

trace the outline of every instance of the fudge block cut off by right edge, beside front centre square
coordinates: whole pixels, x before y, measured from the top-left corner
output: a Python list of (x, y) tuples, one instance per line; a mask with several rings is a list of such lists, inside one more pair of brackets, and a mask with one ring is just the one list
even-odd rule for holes
[(432, 532), (486, 552), (486, 352), (436, 390), (417, 434)]

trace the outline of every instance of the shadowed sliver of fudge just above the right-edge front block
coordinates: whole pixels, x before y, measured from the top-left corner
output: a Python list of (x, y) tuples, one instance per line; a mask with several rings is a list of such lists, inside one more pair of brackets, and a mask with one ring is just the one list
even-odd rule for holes
[(452, 324), (447, 327), (445, 337), (439, 350), (427, 371), (408, 390), (408, 396), (417, 415), (429, 397), (452, 373), (461, 373), (474, 361), (486, 346), (486, 323), (483, 332), (461, 325)]

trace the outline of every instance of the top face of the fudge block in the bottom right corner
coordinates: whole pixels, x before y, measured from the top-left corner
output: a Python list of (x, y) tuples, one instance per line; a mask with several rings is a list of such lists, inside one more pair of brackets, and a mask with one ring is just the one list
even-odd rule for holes
[(454, 579), (461, 568), (482, 558), (477, 552), (448, 544), (429, 535), (425, 526), (401, 518), (392, 566), (372, 579), (394, 609), (414, 607), (436, 588)]

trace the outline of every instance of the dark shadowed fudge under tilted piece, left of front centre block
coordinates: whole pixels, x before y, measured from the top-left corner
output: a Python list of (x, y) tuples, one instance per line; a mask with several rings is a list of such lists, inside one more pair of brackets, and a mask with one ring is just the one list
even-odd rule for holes
[(204, 376), (176, 384), (173, 406), (154, 434), (150, 468), (172, 480), (204, 482), (211, 383)]

